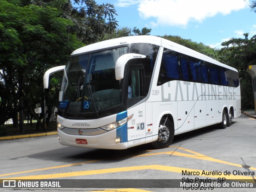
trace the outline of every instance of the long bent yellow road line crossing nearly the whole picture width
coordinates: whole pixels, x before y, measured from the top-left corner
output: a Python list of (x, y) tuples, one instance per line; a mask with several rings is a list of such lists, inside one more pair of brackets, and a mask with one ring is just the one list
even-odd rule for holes
[(120, 168), (108, 168), (108, 169), (100, 169), (100, 170), (86, 170), (86, 171), (78, 171), (78, 172), (66, 172), (66, 173), (56, 173), (56, 174), (45, 174), (45, 175), (32, 175), (32, 176), (21, 176), (15, 178), (4, 178), (6, 180), (33, 180), (33, 179), (53, 179), (53, 178), (64, 178), (64, 177), (74, 177), (74, 176), (88, 176), (88, 175), (96, 175), (96, 174), (107, 174), (107, 173), (116, 173), (116, 172), (128, 172), (128, 171), (138, 171), (138, 170), (161, 170), (167, 172), (176, 172), (182, 173), (187, 172), (199, 172), (198, 176), (205, 176), (211, 178), (220, 178), (224, 177), (227, 180), (251, 180), (251, 176), (240, 176), (240, 175), (203, 175), (203, 170), (196, 169), (188, 169), (181, 167), (173, 167), (173, 166), (164, 166), (164, 165), (144, 165), (144, 166), (131, 166), (131, 167), (120, 167)]

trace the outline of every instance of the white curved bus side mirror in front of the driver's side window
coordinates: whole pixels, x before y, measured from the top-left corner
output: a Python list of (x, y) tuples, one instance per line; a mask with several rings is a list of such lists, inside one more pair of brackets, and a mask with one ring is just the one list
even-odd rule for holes
[(116, 60), (116, 80), (121, 80), (124, 78), (124, 67), (126, 63), (131, 59), (138, 59), (138, 58), (146, 58), (146, 55), (135, 54), (135, 53), (128, 53), (120, 56), (118, 60)]

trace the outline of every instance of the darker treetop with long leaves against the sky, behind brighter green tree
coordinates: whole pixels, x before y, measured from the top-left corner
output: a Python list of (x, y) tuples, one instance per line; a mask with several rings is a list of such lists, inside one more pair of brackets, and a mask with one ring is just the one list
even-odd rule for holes
[(76, 34), (84, 44), (104, 40), (104, 36), (114, 32), (118, 26), (114, 17), (116, 10), (109, 3), (99, 5), (94, 0), (41, 0), (32, 3), (60, 9), (61, 17), (73, 22), (68, 32)]

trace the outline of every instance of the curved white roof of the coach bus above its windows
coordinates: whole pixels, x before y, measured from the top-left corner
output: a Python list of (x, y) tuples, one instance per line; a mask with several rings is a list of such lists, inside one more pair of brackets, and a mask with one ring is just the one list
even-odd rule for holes
[(83, 54), (86, 52), (92, 52), (92, 51), (96, 51), (96, 50), (106, 49), (106, 48), (110, 48), (110, 47), (120, 46), (120, 45), (132, 44), (132, 43), (149, 43), (149, 44), (155, 44), (155, 45), (159, 45), (159, 46), (163, 46), (163, 47), (171, 46), (170, 49), (172, 49), (176, 52), (180, 52), (182, 54), (186, 54), (188, 56), (192, 56), (194, 58), (198, 58), (198, 59), (201, 59), (201, 60), (204, 60), (207, 62), (211, 62), (216, 65), (223, 66), (223, 67), (237, 71), (235, 68), (225, 65), (225, 64), (222, 64), (221, 62), (219, 62), (209, 56), (201, 54), (195, 50), (192, 50), (192, 49), (182, 46), (180, 44), (174, 43), (170, 40), (166, 40), (164, 38), (160, 38), (157, 36), (149, 36), (149, 35), (120, 37), (120, 38), (97, 42), (94, 44), (90, 44), (90, 45), (78, 48), (77, 50), (72, 52), (71, 56), (74, 56), (76, 54)]

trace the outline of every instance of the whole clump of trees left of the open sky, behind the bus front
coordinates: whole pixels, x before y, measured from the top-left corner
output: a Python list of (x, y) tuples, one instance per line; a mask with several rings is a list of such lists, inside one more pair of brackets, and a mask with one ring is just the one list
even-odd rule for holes
[[(33, 112), (35, 104), (43, 104), (44, 72), (65, 64), (70, 53), (84, 45), (81, 41), (91, 44), (115, 31), (114, 15), (113, 5), (94, 0), (1, 0), (0, 124), (13, 118), (18, 125), (19, 114), (25, 133), (24, 110)], [(56, 97), (52, 89), (58, 85), (46, 98)]]

